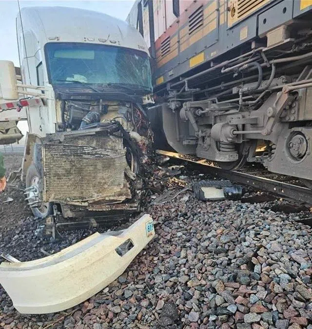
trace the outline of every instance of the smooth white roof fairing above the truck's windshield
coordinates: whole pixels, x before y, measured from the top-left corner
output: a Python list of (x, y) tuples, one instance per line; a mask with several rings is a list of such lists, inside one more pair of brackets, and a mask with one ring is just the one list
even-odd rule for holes
[[(84, 42), (149, 53), (135, 28), (104, 13), (69, 7), (26, 7), (21, 9), (21, 19), (24, 33), (34, 33), (41, 46), (47, 42)], [(17, 29), (21, 29), (19, 16)]]

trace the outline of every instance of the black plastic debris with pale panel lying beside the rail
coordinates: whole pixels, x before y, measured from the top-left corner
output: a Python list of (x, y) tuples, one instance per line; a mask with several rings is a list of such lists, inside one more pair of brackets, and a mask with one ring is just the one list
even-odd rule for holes
[(199, 200), (238, 200), (242, 197), (242, 187), (229, 180), (201, 180), (194, 183), (194, 196)]

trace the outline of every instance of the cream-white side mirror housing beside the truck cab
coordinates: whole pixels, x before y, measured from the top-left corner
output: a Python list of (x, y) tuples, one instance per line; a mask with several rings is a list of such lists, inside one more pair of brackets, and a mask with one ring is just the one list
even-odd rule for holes
[[(2, 95), (1, 95), (2, 94)], [(0, 60), (0, 98), (14, 100), (19, 98), (14, 63)]]

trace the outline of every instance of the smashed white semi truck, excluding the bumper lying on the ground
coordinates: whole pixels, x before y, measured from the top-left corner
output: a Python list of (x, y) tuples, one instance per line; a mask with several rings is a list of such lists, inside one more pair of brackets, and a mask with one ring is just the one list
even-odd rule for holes
[(0, 103), (32, 103), (21, 112), (6, 108), (0, 122), (14, 126), (27, 117), (22, 179), (33, 213), (55, 227), (137, 211), (139, 173), (152, 142), (142, 36), (102, 13), (32, 7), (21, 9), (17, 38), (20, 77), (12, 62), (1, 61)]

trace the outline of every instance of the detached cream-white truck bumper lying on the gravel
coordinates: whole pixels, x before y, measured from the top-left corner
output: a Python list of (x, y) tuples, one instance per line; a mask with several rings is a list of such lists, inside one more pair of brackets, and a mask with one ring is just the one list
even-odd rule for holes
[(0, 265), (0, 284), (20, 313), (71, 308), (114, 281), (155, 235), (150, 215), (128, 229), (95, 233), (41, 259)]

